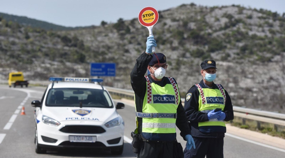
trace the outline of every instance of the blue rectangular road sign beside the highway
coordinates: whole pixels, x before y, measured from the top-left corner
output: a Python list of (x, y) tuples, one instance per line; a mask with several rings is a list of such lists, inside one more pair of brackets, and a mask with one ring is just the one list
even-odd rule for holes
[(90, 63), (91, 76), (116, 76), (115, 63)]

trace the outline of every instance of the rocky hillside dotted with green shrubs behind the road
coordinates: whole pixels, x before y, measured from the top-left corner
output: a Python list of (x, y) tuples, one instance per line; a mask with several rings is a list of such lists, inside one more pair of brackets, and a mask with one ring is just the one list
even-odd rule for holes
[[(240, 6), (181, 5), (159, 11), (153, 27), (156, 52), (167, 57), (166, 76), (182, 97), (202, 79), (200, 63), (217, 62), (217, 79), (237, 106), (285, 113), (285, 18)], [(137, 17), (70, 31), (23, 27), (1, 19), (0, 79), (24, 71), (30, 80), (50, 76), (89, 77), (90, 62), (116, 63), (107, 86), (131, 89), (130, 72), (145, 50), (148, 30)]]

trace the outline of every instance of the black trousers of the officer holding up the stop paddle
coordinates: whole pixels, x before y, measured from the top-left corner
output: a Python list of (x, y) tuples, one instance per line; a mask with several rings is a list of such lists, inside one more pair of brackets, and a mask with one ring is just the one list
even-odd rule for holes
[[(182, 152), (182, 151), (181, 151)], [(140, 142), (139, 158), (173, 158), (174, 141), (172, 142)]]

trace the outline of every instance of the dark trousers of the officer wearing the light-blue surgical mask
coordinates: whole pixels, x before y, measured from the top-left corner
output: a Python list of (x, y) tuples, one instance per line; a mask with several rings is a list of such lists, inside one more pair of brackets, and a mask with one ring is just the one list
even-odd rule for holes
[(224, 138), (193, 137), (196, 149), (184, 149), (184, 158), (223, 158)]

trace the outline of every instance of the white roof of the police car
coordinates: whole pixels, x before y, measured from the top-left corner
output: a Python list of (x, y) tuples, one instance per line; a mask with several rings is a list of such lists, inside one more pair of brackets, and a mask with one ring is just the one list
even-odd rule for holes
[[(48, 88), (52, 87), (52, 83), (48, 85)], [(88, 89), (104, 89), (103, 86), (90, 82), (54, 82), (52, 88), (88, 88)]]

